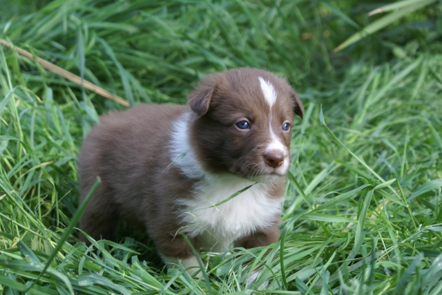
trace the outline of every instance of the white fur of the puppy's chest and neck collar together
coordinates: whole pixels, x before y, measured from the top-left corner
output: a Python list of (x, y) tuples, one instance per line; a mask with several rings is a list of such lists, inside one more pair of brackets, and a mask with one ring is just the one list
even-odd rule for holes
[[(269, 227), (280, 212), (282, 200), (269, 198), (273, 184), (254, 184), (235, 175), (204, 171), (189, 141), (191, 120), (191, 113), (186, 113), (175, 121), (170, 142), (170, 160), (187, 177), (200, 179), (193, 198), (177, 200), (182, 206), (180, 230), (191, 238), (199, 236), (208, 251), (226, 251), (235, 240)], [(213, 207), (250, 185), (247, 191)]]

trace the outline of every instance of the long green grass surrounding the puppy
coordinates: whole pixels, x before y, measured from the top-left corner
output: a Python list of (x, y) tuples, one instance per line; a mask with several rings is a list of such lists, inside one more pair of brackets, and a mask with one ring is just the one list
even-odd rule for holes
[(184, 104), (204, 75), (251, 66), (287, 77), (305, 119), (280, 241), (206, 253), (200, 280), (165, 269), (135, 236), (77, 240), (81, 140), (99, 114), (124, 107), (0, 47), (0, 290), (441, 294), (442, 8), (333, 53), (371, 21), (367, 3), (8, 2), (1, 39), (131, 104)]

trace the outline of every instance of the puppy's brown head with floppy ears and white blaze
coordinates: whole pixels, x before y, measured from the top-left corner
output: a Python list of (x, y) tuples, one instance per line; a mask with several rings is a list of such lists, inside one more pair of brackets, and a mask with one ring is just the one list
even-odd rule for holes
[(291, 126), (304, 108), (285, 79), (264, 70), (229, 70), (206, 77), (189, 106), (197, 115), (191, 141), (204, 169), (258, 182), (287, 173)]

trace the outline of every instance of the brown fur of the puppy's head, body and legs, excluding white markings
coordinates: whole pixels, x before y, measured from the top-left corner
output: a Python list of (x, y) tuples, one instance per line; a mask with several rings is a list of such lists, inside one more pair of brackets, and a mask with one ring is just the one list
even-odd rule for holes
[[(204, 171), (240, 178), (271, 171), (262, 160), (269, 138), (268, 117), (264, 115), (269, 105), (263, 100), (258, 75), (278, 92), (273, 106), (277, 116), (270, 124), (289, 146), (291, 132), (282, 132), (280, 125), (287, 118), (292, 124), (294, 114), (302, 117), (302, 104), (284, 79), (262, 70), (237, 69), (207, 77), (191, 93), (190, 108), (140, 105), (111, 113), (90, 131), (81, 149), (81, 200), (97, 176), (102, 180), (81, 218), (81, 229), (95, 239), (114, 239), (118, 220), (126, 220), (141, 226), (162, 256), (191, 256), (189, 245), (177, 235), (182, 227), (182, 205), (177, 200), (191, 200), (200, 180), (184, 175), (177, 165), (169, 166), (171, 130), (178, 117), (192, 113), (189, 137)], [(238, 132), (238, 116), (247, 116), (253, 129)], [(276, 176), (267, 196), (280, 199), (284, 189), (284, 175)], [(275, 216), (268, 227), (240, 237), (236, 245), (249, 248), (275, 242), (280, 235), (278, 220)], [(196, 249), (204, 244), (199, 236), (190, 240)]]

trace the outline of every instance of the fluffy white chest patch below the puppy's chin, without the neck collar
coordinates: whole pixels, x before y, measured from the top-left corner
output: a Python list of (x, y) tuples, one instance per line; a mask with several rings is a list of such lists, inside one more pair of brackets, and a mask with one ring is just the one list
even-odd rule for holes
[[(271, 225), (281, 200), (267, 196), (271, 184), (253, 184), (234, 175), (211, 175), (195, 187), (195, 198), (180, 200), (182, 231), (200, 236), (209, 251), (225, 251), (238, 238)], [(238, 196), (218, 206), (237, 191)]]

